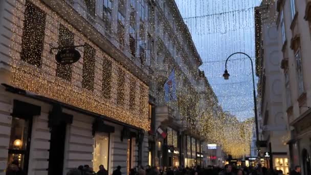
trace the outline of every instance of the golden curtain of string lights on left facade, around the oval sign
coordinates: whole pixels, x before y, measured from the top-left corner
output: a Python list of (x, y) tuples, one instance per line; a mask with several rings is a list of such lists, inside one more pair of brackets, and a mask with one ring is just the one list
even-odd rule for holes
[[(31, 57), (33, 55), (29, 55), (29, 60), (23, 61), (20, 60), (20, 51), (22, 50), (22, 46), (20, 45), (21, 39), (23, 36), (23, 19), (25, 4), (16, 1), (16, 8), (14, 9), (15, 16), (13, 17), (13, 36), (12, 36), (12, 44), (11, 44), (11, 84), (17, 86), (18, 88), (28, 90), (38, 95), (46, 96), (52, 99), (56, 99), (58, 101), (68, 103), (77, 107), (80, 107), (84, 110), (91, 111), (97, 114), (101, 114), (104, 116), (108, 116), (115, 120), (125, 122), (145, 130), (149, 130), (150, 123), (148, 121), (148, 87), (138, 80), (136, 77), (132, 76), (127, 70), (121, 67), (116, 61), (112, 60), (104, 54), (99, 48), (97, 48), (93, 43), (89, 42), (87, 38), (85, 38), (82, 34), (80, 34), (77, 30), (75, 30), (71, 25), (68, 25), (63, 19), (61, 19), (58, 15), (53, 13), (49, 8), (43, 5), (41, 2), (37, 0), (29, 0), (32, 2), (35, 7), (38, 7), (40, 10), (44, 11), (46, 16), (41, 16), (46, 20), (46, 29), (45, 29), (45, 42), (43, 45), (43, 52), (41, 59), (41, 64), (38, 64), (40, 67), (35, 65), (30, 65), (27, 62), (31, 62)], [(25, 2), (24, 2), (25, 3)], [(26, 17), (26, 16), (25, 16)], [(27, 23), (28, 20), (25, 20)], [(94, 91), (88, 91), (81, 87), (82, 83), (82, 71), (83, 66), (83, 49), (79, 48), (78, 50), (81, 53), (81, 58), (77, 63), (72, 64), (72, 81), (65, 81), (62, 78), (56, 77), (56, 61), (54, 59), (54, 55), (50, 54), (48, 50), (50, 49), (50, 43), (57, 43), (58, 38), (58, 26), (62, 24), (67, 29), (74, 33), (74, 43), (76, 45), (83, 45), (83, 43), (87, 43), (90, 47), (94, 48), (96, 54), (93, 55), (96, 61), (95, 72), (94, 72), (94, 84), (88, 84), (90, 80), (86, 81), (86, 85), (88, 89), (93, 88)], [(24, 24), (25, 25), (25, 24)], [(31, 28), (31, 27), (30, 27)], [(27, 29), (26, 29), (27, 30)], [(33, 32), (33, 31), (29, 31)], [(33, 32), (34, 33), (34, 32)], [(24, 37), (26, 37), (25, 35)], [(33, 36), (33, 35), (30, 35)], [(36, 39), (36, 38), (32, 38)], [(26, 38), (27, 40), (27, 38)], [(32, 46), (30, 46), (32, 47)], [(33, 48), (30, 48), (33, 49)], [(85, 50), (85, 48), (84, 48)], [(28, 53), (31, 53), (28, 52)], [(35, 52), (33, 52), (35, 53)], [(92, 54), (91, 54), (92, 55)], [(90, 55), (88, 55), (90, 56)], [(91, 56), (92, 57), (92, 56)], [(103, 59), (108, 59), (112, 62), (112, 76), (110, 78), (112, 90), (110, 99), (105, 99), (102, 96), (102, 87), (101, 84), (97, 82), (102, 82), (102, 65)], [(92, 62), (92, 61), (91, 61)], [(84, 62), (86, 64), (87, 62)], [(98, 67), (100, 65), (100, 67)], [(122, 70), (124, 74), (120, 75), (117, 73), (117, 70)], [(85, 71), (90, 71), (89, 69)], [(90, 72), (85, 72), (85, 75), (89, 77)], [(91, 75), (92, 76), (92, 75)], [(116, 102), (117, 96), (117, 84), (116, 78), (117, 76), (122, 76), (124, 82), (124, 91), (123, 95), (120, 97), (124, 99), (124, 102), (119, 105)], [(138, 104), (137, 110), (129, 110), (129, 102), (127, 97), (129, 96), (129, 77), (135, 80), (137, 83), (136, 89), (140, 90), (139, 96), (135, 97), (135, 104)], [(87, 87), (86, 86), (86, 87)], [(115, 94), (116, 93), (116, 94)], [(126, 100), (125, 100), (126, 99)], [(131, 99), (133, 100), (133, 99)]]

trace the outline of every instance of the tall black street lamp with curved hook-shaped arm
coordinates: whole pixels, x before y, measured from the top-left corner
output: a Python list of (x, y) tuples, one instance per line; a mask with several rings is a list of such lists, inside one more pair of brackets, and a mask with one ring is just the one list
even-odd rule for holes
[(256, 124), (256, 142), (257, 142), (257, 144), (258, 144), (259, 138), (258, 138), (258, 122), (257, 122), (257, 103), (256, 103), (256, 91), (255, 91), (255, 80), (254, 80), (254, 68), (253, 68), (253, 61), (252, 61), (252, 58), (251, 58), (248, 54), (243, 53), (243, 52), (236, 52), (236, 53), (231, 54), (231, 55), (227, 58), (227, 60), (226, 60), (226, 64), (225, 64), (225, 73), (224, 73), (223, 76), (224, 76), (225, 80), (228, 80), (228, 79), (229, 79), (230, 74), (228, 73), (228, 70), (227, 70), (227, 61), (228, 61), (228, 59), (229, 59), (231, 56), (233, 56), (233, 55), (235, 55), (235, 54), (243, 54), (243, 55), (246, 55), (246, 56), (249, 57), (250, 60), (251, 60), (252, 74), (253, 74), (253, 93), (254, 93), (254, 112), (255, 112), (255, 124)]

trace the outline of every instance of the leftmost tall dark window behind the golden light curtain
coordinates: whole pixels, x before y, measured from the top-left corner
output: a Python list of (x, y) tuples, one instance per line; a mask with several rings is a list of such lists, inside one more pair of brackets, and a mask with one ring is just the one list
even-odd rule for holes
[(36, 67), (41, 66), (45, 28), (46, 13), (34, 4), (26, 1), (20, 59)]

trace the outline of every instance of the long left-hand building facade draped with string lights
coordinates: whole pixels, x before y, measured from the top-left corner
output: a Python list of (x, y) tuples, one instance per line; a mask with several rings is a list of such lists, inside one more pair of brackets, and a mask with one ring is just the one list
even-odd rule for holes
[(194, 128), (215, 97), (174, 2), (16, 0), (0, 12), (0, 174), (15, 159), (51, 175), (202, 164)]

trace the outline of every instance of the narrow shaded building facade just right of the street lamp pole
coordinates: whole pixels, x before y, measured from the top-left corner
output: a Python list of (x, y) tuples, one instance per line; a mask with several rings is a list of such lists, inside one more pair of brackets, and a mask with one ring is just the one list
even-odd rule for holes
[[(266, 167), (289, 172), (288, 148), (283, 142), (287, 135), (286, 114), (282, 103), (282, 72), (280, 70), (281, 50), (278, 45), (276, 6), (271, 1), (263, 1), (256, 8), (256, 74), (259, 76), (259, 130), (264, 145), (260, 157)], [(269, 152), (270, 156), (266, 156)]]

